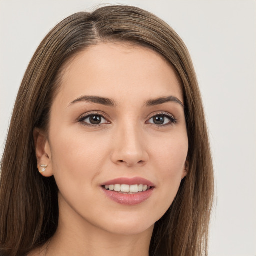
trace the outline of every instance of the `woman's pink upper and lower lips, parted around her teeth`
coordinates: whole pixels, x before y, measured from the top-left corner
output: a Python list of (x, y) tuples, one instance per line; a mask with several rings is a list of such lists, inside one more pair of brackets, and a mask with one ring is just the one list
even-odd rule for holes
[[(114, 185), (114, 184), (126, 184), (126, 185), (143, 184), (143, 185), (150, 186), (151, 188), (146, 191), (142, 191), (134, 194), (123, 194), (113, 190), (112, 191), (106, 190), (103, 187), (105, 185)], [(108, 180), (101, 184), (101, 189), (108, 198), (110, 198), (111, 200), (119, 204), (124, 204), (124, 205), (136, 205), (144, 202), (152, 195), (154, 187), (155, 185), (152, 182), (141, 177), (116, 178), (116, 179)]]

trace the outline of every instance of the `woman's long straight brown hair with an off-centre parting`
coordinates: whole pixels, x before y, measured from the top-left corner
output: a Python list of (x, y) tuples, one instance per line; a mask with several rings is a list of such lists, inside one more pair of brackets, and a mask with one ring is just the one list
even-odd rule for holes
[(47, 130), (63, 64), (99, 41), (129, 41), (149, 47), (173, 66), (184, 97), (189, 166), (173, 203), (155, 223), (149, 255), (206, 255), (213, 168), (189, 53), (164, 21), (145, 10), (122, 5), (67, 17), (46, 35), (27, 67), (1, 161), (0, 252), (24, 255), (56, 231), (57, 185), (53, 176), (45, 178), (38, 173), (33, 129)]

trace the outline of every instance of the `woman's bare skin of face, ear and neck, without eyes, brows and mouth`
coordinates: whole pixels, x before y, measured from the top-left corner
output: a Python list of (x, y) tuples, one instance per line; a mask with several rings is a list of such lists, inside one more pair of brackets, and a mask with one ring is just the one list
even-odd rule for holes
[[(115, 106), (75, 101), (110, 98)], [(63, 68), (47, 133), (35, 129), (38, 164), (59, 188), (59, 223), (49, 244), (30, 255), (148, 255), (154, 223), (171, 205), (186, 175), (188, 139), (181, 103), (147, 106), (173, 96), (183, 102), (172, 67), (151, 49), (127, 43), (99, 43)], [(71, 103), (73, 102), (73, 103)], [(99, 125), (84, 115), (103, 115)], [(155, 124), (153, 116), (169, 114)], [(152, 195), (137, 205), (104, 194), (103, 182), (143, 177)], [(47, 247), (47, 249), (45, 249)]]

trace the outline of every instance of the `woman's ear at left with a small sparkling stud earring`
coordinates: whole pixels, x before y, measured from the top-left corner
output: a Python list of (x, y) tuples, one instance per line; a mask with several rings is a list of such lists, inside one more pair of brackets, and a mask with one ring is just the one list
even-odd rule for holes
[(44, 177), (50, 177), (53, 175), (53, 171), (50, 145), (47, 136), (41, 129), (34, 128), (33, 137), (38, 171)]

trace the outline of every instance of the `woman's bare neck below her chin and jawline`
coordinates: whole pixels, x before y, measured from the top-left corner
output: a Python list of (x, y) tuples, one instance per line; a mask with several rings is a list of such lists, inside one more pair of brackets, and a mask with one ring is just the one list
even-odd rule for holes
[(111, 233), (73, 213), (60, 209), (58, 228), (47, 246), (46, 256), (148, 256), (153, 226), (140, 233)]

